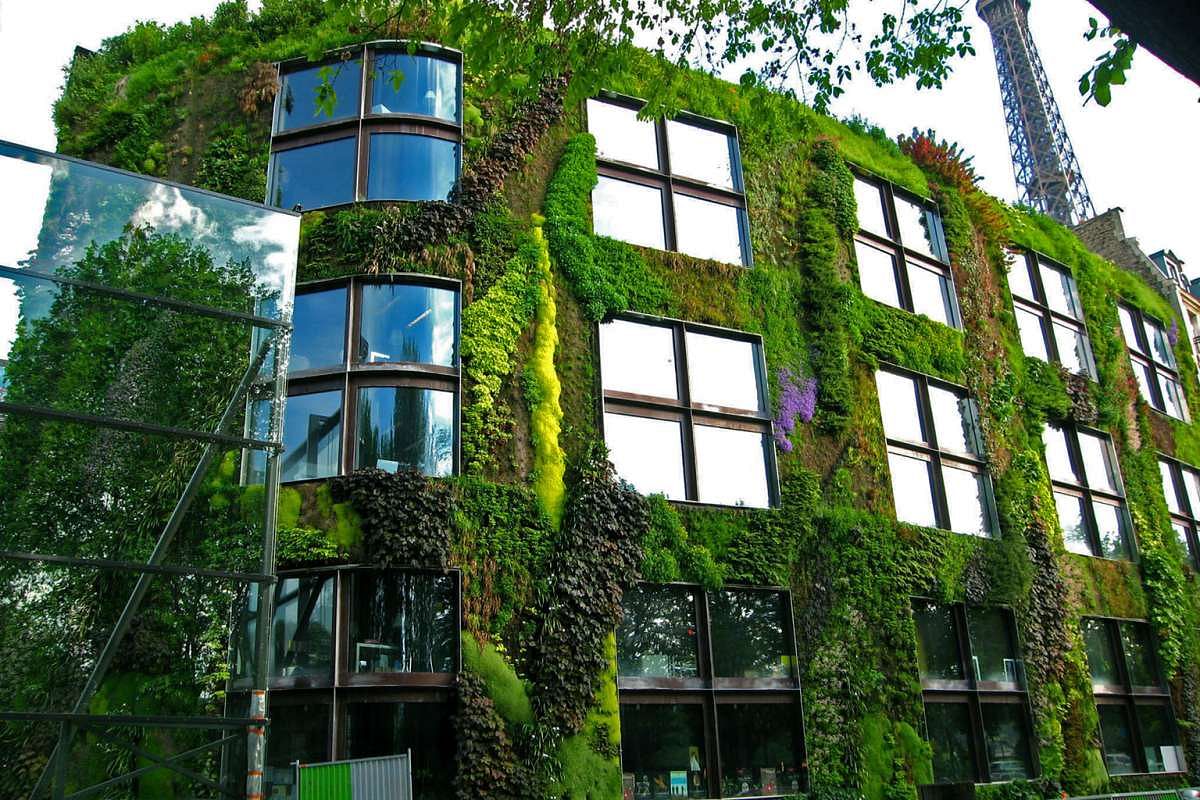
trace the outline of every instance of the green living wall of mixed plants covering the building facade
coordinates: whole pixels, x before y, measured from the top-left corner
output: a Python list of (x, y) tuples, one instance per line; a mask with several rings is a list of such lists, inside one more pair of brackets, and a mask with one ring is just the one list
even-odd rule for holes
[[(260, 199), (270, 62), (361, 41), (361, 30), (352, 10), (318, 0), (265, 2), (256, 14), (227, 2), (210, 20), (138, 25), (77, 59), (56, 106), (59, 146)], [(446, 480), (361, 473), (287, 489), (281, 566), (462, 571), (460, 798), (620, 796), (612, 631), (622, 591), (637, 579), (791, 587), (816, 795), (898, 800), (931, 780), (914, 595), (1014, 610), (1040, 777), (980, 793), (1164, 782), (1105, 772), (1085, 615), (1152, 622), (1188, 760), (1200, 766), (1195, 576), (1156, 463), (1163, 451), (1200, 464), (1200, 437), (1139, 399), (1116, 312), (1120, 297), (1175, 320), (1163, 297), (1057, 223), (984, 196), (956, 154), (928, 137), (901, 146), (860, 121), (632, 49), (606, 59), (599, 77), (500, 80), (486, 25), (392, 19), (372, 32), (466, 53), (463, 180), (449, 204), (307, 213), (300, 279), (422, 272), (463, 282), (464, 470)], [(524, 55), (536, 61), (535, 50)], [(737, 125), (752, 269), (592, 234), (595, 143), (580, 98), (596, 80)], [(859, 290), (851, 166), (937, 201), (961, 332)], [(1004, 255), (1014, 246), (1073, 271), (1098, 383), (1021, 354)], [(598, 434), (595, 324), (625, 311), (760, 333), (773, 409), (811, 396), (812, 413), (780, 440), (778, 509), (678, 506), (614, 480)], [(1183, 341), (1175, 350), (1188, 403), (1200, 409), (1190, 350)], [(896, 522), (874, 381), (881, 362), (967, 386), (978, 401), (996, 539)], [(1138, 563), (1066, 552), (1040, 444), (1043, 423), (1063, 420), (1112, 435)]]

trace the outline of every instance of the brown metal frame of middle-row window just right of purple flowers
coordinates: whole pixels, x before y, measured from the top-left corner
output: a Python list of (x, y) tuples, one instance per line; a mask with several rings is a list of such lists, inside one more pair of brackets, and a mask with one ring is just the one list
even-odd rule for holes
[[(1000, 536), (1000, 515), (996, 510), (996, 494), (991, 485), (991, 471), (988, 469), (986, 458), (982, 455), (976, 453), (960, 453), (949, 450), (942, 450), (937, 441), (937, 426), (934, 421), (934, 408), (929, 398), (930, 386), (942, 389), (948, 392), (953, 392), (960, 399), (967, 401), (967, 409), (971, 416), (971, 432), (974, 439), (974, 445), (982, 453), (984, 451), (983, 435), (979, 427), (979, 410), (976, 405), (974, 398), (971, 396), (965, 387), (958, 386), (955, 384), (938, 380), (937, 378), (931, 378), (920, 372), (913, 372), (912, 369), (905, 369), (904, 367), (898, 367), (892, 363), (881, 362), (876, 372), (887, 372), (889, 374), (911, 380), (917, 390), (917, 414), (920, 421), (922, 432), (925, 435), (924, 443), (908, 441), (907, 439), (893, 439), (884, 433), (884, 441), (887, 443), (888, 452), (896, 453), (899, 456), (905, 456), (908, 458), (917, 458), (920, 461), (929, 462), (932, 468), (930, 471), (930, 495), (934, 501), (934, 516), (937, 518), (937, 528), (940, 530), (947, 530), (949, 533), (958, 533), (961, 536), (977, 536), (979, 539), (996, 539)], [(882, 403), (883, 398), (878, 398), (881, 403), (881, 420), (882, 420)], [(946, 491), (946, 479), (942, 475), (942, 467), (948, 465), (955, 469), (962, 469), (966, 471), (974, 473), (976, 475), (982, 475), (984, 477), (984, 515), (988, 518), (989, 531), (986, 535), (978, 535), (971, 533), (955, 531), (950, 529), (950, 507), (949, 499)], [(889, 468), (890, 476), (890, 468)], [(893, 486), (893, 492), (895, 491)]]

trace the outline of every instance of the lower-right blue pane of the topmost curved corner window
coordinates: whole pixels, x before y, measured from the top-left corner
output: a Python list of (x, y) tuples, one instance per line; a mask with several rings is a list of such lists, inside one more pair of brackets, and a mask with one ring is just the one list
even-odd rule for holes
[(458, 181), (458, 143), (414, 133), (372, 133), (368, 200), (448, 200)]

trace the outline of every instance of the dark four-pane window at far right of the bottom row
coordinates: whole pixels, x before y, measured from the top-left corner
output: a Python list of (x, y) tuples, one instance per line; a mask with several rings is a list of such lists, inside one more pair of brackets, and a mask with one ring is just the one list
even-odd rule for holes
[(1150, 626), (1099, 618), (1082, 626), (1109, 775), (1186, 771)]

